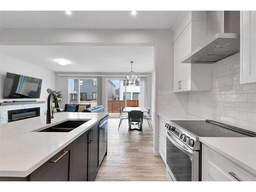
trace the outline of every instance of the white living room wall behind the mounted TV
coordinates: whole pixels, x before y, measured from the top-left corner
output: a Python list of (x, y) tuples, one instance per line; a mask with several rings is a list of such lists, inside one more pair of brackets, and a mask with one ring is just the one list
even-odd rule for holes
[[(2, 53), (0, 53), (0, 66), (0, 102), (3, 102), (3, 100), (14, 100), (3, 99), (6, 72), (27, 75), (42, 79), (41, 94), (40, 99), (37, 99), (38, 101), (47, 100), (48, 94), (46, 90), (48, 88), (53, 90), (55, 89), (55, 73), (50, 70), (38, 67), (32, 63), (9, 57)], [(47, 108), (45, 105), (45, 113), (46, 109)]]

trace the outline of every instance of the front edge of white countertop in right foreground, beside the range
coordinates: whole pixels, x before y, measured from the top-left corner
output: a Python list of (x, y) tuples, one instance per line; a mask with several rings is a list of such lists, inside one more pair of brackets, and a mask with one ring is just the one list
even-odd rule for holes
[(210, 148), (212, 148), (213, 150), (217, 151), (218, 153), (220, 153), (221, 155), (225, 156), (227, 159), (231, 160), (232, 162), (238, 164), (239, 166), (243, 167), (244, 169), (246, 169), (248, 172), (250, 172), (251, 174), (254, 174), (256, 176), (256, 169), (247, 165), (246, 163), (238, 160), (237, 158), (229, 155), (228, 153), (226, 153), (225, 151), (221, 150), (220, 148), (216, 147), (215, 145), (212, 145), (209, 141), (205, 140), (207, 139), (207, 137), (199, 137), (199, 141), (202, 142), (203, 144), (209, 146)]

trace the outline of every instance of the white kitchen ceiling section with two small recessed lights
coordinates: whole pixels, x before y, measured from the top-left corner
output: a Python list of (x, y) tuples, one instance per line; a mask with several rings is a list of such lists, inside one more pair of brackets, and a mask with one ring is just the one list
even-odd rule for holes
[(180, 11), (0, 11), (0, 28), (170, 29)]

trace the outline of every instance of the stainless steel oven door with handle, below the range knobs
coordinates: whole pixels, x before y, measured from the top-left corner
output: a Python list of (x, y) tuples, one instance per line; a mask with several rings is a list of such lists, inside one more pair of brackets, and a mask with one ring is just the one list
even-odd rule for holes
[(166, 131), (166, 164), (173, 181), (199, 181), (199, 152)]

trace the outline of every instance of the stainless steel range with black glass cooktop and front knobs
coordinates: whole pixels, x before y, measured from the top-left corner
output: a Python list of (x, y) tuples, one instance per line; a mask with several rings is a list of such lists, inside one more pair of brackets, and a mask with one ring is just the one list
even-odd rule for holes
[(167, 181), (201, 181), (199, 137), (256, 136), (238, 127), (216, 121), (169, 121), (166, 127)]

